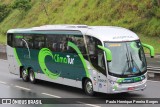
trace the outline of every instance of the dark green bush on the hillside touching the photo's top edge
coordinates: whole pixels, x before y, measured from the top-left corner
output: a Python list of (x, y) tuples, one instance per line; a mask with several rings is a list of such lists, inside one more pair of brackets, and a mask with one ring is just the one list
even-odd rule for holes
[(31, 0), (15, 0), (12, 7), (20, 11), (27, 11), (31, 8)]

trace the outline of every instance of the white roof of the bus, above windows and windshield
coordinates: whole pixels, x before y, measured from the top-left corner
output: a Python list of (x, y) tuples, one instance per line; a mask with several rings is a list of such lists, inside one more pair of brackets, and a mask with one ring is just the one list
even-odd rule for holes
[(90, 35), (101, 41), (133, 41), (139, 37), (132, 31), (115, 26), (87, 26), (87, 25), (44, 25), (32, 28), (10, 29), (7, 33), (32, 33), (47, 31), (80, 31), (83, 35)]

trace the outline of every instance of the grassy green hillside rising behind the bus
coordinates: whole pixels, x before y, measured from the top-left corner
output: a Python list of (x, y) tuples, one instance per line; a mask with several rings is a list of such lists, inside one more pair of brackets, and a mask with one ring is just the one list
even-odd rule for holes
[[(27, 1), (16, 4), (15, 1)], [(159, 0), (0, 0), (0, 42), (8, 29), (46, 24), (121, 26), (160, 53)], [(4, 8), (3, 8), (4, 9)], [(5, 14), (5, 15), (3, 15)], [(4, 17), (2, 17), (2, 15)], [(148, 52), (148, 51), (147, 51)]]

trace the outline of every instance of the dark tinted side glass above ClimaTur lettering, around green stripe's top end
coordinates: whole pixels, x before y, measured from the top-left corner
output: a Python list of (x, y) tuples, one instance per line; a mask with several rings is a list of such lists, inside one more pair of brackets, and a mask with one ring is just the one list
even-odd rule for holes
[(81, 35), (47, 35), (47, 46), (55, 52), (76, 53), (68, 42), (76, 44), (82, 54), (86, 54), (84, 39)]

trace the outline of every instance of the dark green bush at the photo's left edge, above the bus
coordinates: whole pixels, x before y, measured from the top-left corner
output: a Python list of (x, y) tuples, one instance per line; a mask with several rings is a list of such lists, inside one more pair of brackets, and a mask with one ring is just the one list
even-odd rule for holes
[(6, 18), (10, 12), (10, 7), (5, 5), (5, 4), (1, 4), (0, 5), (0, 22), (3, 21), (4, 18)]

